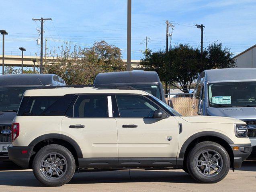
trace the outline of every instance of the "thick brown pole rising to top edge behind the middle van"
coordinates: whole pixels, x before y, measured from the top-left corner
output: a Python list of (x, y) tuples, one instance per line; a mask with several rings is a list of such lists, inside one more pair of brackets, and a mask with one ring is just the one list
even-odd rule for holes
[(131, 71), (131, 0), (127, 0), (127, 71)]

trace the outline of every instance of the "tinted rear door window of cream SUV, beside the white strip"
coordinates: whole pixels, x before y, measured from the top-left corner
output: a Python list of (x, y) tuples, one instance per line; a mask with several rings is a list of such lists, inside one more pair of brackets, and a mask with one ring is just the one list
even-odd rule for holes
[(107, 118), (109, 117), (106, 95), (79, 95), (74, 104), (74, 118)]

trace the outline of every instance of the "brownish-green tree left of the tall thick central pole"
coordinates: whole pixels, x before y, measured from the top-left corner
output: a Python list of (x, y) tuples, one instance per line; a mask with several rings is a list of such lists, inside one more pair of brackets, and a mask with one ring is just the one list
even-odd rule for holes
[(70, 43), (50, 53), (54, 63), (48, 62), (45, 73), (57, 74), (66, 84), (92, 84), (100, 72), (125, 70), (121, 50), (105, 41), (95, 42), (90, 48), (81, 48)]

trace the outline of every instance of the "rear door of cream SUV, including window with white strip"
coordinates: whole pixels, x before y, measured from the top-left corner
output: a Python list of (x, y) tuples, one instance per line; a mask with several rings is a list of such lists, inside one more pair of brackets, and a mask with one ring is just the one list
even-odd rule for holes
[(61, 134), (73, 138), (80, 146), (80, 167), (117, 165), (117, 124), (111, 96), (80, 94), (61, 122)]

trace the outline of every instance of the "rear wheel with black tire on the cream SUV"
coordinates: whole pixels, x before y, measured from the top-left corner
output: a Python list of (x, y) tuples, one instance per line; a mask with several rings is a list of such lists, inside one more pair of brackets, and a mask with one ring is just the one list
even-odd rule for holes
[(62, 186), (74, 176), (76, 162), (72, 153), (67, 148), (51, 144), (37, 152), (32, 168), (35, 177), (43, 185)]

